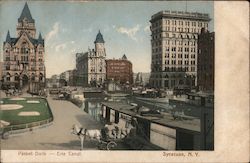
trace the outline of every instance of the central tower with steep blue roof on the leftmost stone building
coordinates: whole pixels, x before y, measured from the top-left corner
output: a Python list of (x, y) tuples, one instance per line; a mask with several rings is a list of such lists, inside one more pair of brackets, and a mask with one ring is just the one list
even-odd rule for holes
[(27, 2), (24, 5), (20, 17), (18, 18), (16, 31), (17, 37), (20, 37), (23, 32), (26, 32), (32, 38), (35, 38), (36, 36), (35, 20), (30, 14), (30, 9)]

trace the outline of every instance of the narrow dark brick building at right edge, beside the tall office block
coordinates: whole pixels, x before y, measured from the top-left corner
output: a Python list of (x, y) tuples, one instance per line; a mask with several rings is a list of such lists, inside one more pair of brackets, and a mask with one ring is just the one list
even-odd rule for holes
[(197, 84), (201, 91), (214, 91), (214, 32), (201, 30), (198, 37)]

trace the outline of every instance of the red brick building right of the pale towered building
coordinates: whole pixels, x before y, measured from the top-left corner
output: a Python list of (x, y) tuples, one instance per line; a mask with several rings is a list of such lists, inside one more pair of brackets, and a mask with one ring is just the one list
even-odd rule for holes
[(120, 84), (133, 84), (132, 63), (124, 54), (121, 59), (106, 60), (107, 80), (114, 80)]

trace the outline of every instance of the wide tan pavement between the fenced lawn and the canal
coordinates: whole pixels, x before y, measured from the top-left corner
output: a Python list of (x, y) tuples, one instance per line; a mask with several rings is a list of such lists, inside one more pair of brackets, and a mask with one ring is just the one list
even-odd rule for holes
[[(2, 150), (79, 150), (80, 140), (70, 133), (73, 124), (88, 129), (102, 127), (90, 115), (69, 101), (53, 100), (50, 97), (47, 100), (54, 115), (52, 125), (24, 134), (12, 135), (7, 140), (1, 139)], [(84, 149), (97, 149), (96, 142), (86, 141)]]

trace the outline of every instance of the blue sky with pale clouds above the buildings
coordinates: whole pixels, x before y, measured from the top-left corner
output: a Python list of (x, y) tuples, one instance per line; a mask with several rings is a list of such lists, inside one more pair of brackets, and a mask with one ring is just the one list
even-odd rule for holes
[[(7, 31), (16, 37), (17, 19), (26, 1), (0, 1), (0, 60)], [(27, 1), (36, 37), (45, 38), (46, 75), (75, 68), (76, 52), (94, 48), (100, 30), (107, 59), (125, 54), (133, 72), (150, 72), (150, 18), (162, 10), (208, 13), (214, 29), (212, 1)]]

